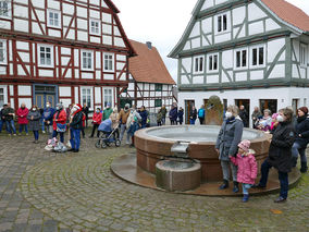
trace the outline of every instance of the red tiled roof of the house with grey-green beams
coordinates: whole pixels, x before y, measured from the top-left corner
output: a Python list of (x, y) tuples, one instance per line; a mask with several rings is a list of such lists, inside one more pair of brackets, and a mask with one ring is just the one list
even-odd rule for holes
[(286, 23), (309, 32), (309, 16), (299, 8), (285, 0), (261, 0), (273, 13)]

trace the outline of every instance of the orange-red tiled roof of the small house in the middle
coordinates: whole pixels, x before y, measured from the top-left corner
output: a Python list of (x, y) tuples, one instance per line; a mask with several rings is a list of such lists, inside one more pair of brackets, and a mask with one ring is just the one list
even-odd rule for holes
[(137, 56), (128, 59), (128, 70), (136, 82), (175, 85), (156, 47), (129, 40)]

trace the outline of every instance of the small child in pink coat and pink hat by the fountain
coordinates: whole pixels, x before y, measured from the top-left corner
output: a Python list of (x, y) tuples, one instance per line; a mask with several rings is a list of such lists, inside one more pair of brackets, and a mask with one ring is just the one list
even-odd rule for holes
[(237, 182), (243, 184), (243, 203), (249, 199), (248, 190), (255, 184), (258, 173), (257, 161), (254, 156), (254, 150), (249, 150), (250, 142), (242, 141), (238, 144), (238, 154), (236, 157), (230, 157), (231, 161), (238, 166)]

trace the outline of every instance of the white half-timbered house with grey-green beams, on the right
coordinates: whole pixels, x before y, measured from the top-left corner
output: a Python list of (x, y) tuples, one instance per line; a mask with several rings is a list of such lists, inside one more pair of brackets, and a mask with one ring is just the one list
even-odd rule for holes
[(284, 0), (199, 0), (169, 57), (178, 60), (178, 105), (273, 112), (308, 107), (309, 16)]

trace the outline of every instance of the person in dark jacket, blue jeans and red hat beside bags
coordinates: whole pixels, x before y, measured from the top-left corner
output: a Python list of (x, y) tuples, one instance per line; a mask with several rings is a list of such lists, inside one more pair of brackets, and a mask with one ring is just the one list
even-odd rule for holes
[(69, 151), (78, 152), (81, 145), (81, 130), (83, 127), (83, 108), (79, 103), (74, 105), (72, 108), (72, 119), (70, 120), (71, 146)]

